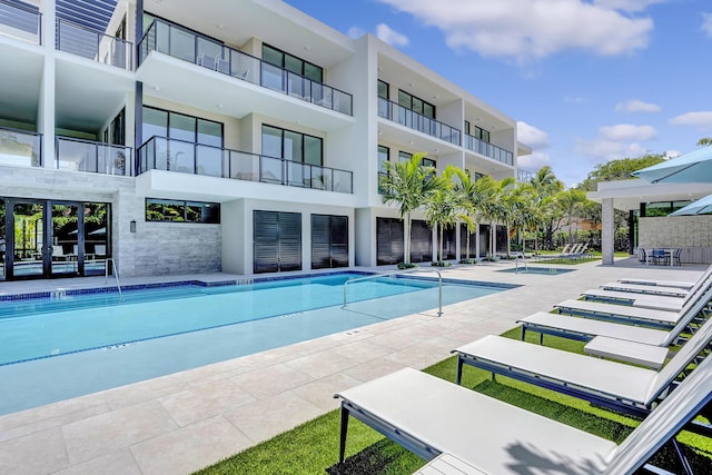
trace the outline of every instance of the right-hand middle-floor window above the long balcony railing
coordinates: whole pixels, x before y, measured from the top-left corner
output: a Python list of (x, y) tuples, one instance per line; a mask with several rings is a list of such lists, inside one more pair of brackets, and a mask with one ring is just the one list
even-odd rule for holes
[(318, 137), (263, 125), (263, 155), (322, 166), (323, 142)]

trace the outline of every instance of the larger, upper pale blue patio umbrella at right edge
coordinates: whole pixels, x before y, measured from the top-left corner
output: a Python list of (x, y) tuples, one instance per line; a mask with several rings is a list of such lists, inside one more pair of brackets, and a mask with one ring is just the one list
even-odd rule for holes
[(701, 148), (671, 158), (652, 167), (633, 171), (634, 177), (651, 184), (708, 184), (712, 182), (712, 147)]

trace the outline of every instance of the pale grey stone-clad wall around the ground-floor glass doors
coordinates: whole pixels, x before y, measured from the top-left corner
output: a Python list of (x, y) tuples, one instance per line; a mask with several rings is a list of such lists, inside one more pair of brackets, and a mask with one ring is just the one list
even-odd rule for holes
[(111, 204), (111, 253), (122, 277), (218, 273), (222, 267), (221, 226), (146, 222), (146, 198), (136, 196), (134, 178), (0, 166), (0, 196)]

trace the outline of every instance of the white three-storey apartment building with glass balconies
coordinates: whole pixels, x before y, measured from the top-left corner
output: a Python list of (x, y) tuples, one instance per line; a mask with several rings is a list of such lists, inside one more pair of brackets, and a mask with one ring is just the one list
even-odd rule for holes
[[(278, 0), (0, 0), (0, 280), (395, 264), (385, 160), (500, 179), (531, 152), (471, 92)], [(434, 243), (416, 216), (413, 260)]]

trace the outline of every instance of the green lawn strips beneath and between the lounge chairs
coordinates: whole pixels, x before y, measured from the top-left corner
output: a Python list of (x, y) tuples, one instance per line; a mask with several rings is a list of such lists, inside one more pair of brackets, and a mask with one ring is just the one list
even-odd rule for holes
[[(504, 336), (518, 338), (514, 328)], [(538, 342), (530, 333), (527, 339)], [(546, 345), (581, 353), (583, 344), (556, 337), (546, 337)], [(454, 382), (456, 358), (452, 357), (429, 368), (426, 373)], [(637, 420), (592, 407), (584, 400), (542, 389), (514, 379), (497, 376), (493, 382), (490, 373), (465, 367), (463, 386), (560, 420), (583, 431), (620, 443), (637, 425)], [(513, 431), (516, 427), (512, 426)], [(710, 473), (712, 465), (712, 441), (683, 433), (679, 441), (695, 473)], [(411, 474), (425, 464), (424, 461), (383, 437), (360, 422), (352, 418), (348, 426), (347, 459), (338, 461), (339, 414), (333, 410), (309, 420), (289, 432), (250, 447), (226, 461), (205, 468), (198, 474)], [(673, 473), (681, 473), (678, 457), (671, 447), (661, 451), (653, 463)]]

